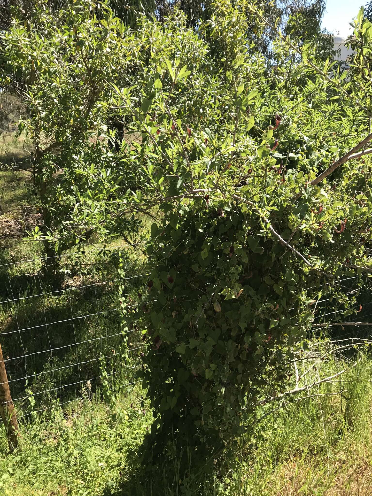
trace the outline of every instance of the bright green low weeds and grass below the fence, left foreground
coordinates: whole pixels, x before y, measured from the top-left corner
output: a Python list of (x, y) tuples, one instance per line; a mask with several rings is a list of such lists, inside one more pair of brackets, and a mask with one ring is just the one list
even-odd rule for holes
[[(114, 394), (105, 402), (100, 390), (91, 397), (87, 385), (84, 400), (25, 421), (19, 449), (0, 460), (1, 494), (102, 495), (118, 489), (126, 453), (140, 442), (150, 418), (140, 408), (138, 388)], [(4, 439), (1, 447), (6, 449)]]

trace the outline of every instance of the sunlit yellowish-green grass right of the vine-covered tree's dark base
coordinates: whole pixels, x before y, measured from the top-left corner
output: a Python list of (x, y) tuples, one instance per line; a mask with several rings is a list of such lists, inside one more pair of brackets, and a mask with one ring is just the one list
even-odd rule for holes
[[(324, 375), (335, 365), (332, 359)], [(323, 386), (327, 396), (300, 400), (260, 426), (252, 494), (265, 487), (283, 496), (372, 493), (371, 365), (361, 362), (342, 382)]]

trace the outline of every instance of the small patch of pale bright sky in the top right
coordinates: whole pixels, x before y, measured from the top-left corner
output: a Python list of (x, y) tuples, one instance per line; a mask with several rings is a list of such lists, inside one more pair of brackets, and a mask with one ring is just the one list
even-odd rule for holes
[(358, 15), (360, 7), (365, 3), (364, 0), (327, 0), (322, 27), (346, 38), (351, 34), (349, 22)]

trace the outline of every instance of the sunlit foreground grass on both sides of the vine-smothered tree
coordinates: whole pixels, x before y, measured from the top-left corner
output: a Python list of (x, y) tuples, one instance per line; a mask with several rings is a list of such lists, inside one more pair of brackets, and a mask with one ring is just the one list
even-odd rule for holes
[[(344, 365), (345, 359), (332, 358), (318, 372), (324, 376)], [(365, 358), (342, 375), (343, 382), (323, 384), (317, 397), (292, 401), (265, 417), (253, 437), (242, 439), (237, 468), (222, 481), (204, 480), (198, 491), (185, 474), (168, 480), (166, 467), (151, 478), (128, 469), (152, 416), (138, 384), (120, 387), (128, 379), (123, 371), (113, 391), (105, 392), (105, 381), (94, 393), (85, 385), (83, 400), (21, 420), (19, 448), (0, 460), (0, 488), (12, 496), (368, 496), (371, 370)], [(1, 449), (5, 453), (3, 438)], [(175, 465), (179, 450), (174, 447)]]

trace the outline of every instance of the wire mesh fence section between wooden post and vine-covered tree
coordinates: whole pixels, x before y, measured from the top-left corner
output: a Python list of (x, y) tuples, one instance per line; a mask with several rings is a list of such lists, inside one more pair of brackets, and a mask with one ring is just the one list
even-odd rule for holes
[[(137, 382), (144, 344), (126, 327), (123, 310), (137, 309), (146, 273), (135, 250), (129, 259), (128, 248), (0, 264), (0, 343), (12, 400), (24, 416), (83, 398), (103, 378), (111, 389), (117, 378), (121, 387)], [(121, 256), (127, 274), (119, 278)], [(43, 276), (54, 262), (55, 277)]]

